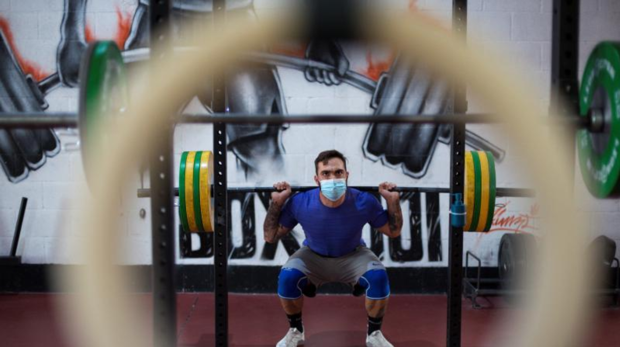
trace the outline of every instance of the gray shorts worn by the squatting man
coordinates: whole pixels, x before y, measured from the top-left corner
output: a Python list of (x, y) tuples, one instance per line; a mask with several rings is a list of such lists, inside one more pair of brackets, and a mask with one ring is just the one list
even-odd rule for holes
[(288, 258), (282, 268), (298, 269), (317, 287), (327, 282), (353, 286), (366, 271), (385, 269), (373, 251), (365, 246), (358, 246), (355, 251), (338, 258), (325, 258), (303, 246)]

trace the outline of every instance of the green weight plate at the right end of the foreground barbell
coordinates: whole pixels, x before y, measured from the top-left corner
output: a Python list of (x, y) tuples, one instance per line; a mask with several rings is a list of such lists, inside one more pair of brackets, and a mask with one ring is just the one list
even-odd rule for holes
[(582, 117), (588, 110), (604, 114), (601, 133), (577, 132), (577, 153), (585, 185), (593, 196), (613, 197), (620, 193), (620, 45), (601, 42), (590, 53), (579, 91)]

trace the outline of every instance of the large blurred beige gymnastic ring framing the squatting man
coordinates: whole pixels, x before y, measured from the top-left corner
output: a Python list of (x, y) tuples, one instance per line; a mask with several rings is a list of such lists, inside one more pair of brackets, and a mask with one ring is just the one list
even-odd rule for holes
[[(513, 341), (513, 345), (571, 345), (579, 331), (585, 282), (582, 281), (584, 264), (574, 256), (581, 240), (575, 222), (577, 214), (559, 218), (560, 212), (573, 209), (572, 175), (561, 174), (573, 169), (567, 164), (572, 148), (561, 146), (560, 143), (565, 142), (561, 142), (557, 133), (539, 125), (539, 112), (533, 107), (538, 98), (530, 94), (531, 88), (516, 71), (507, 71), (505, 64), (489, 60), (488, 55), (483, 60), (472, 50), (466, 50), (457, 38), (449, 37), (446, 32), (436, 32), (433, 25), (415, 14), (402, 18), (394, 14), (389, 17), (376, 14), (372, 20), (364, 20), (374, 37), (397, 43), (400, 49), (415, 55), (425, 65), (457, 81), (467, 81), (469, 88), (501, 114), (502, 121), (508, 122), (505, 128), (513, 143), (520, 143), (520, 153), (527, 156), (528, 176), (539, 189), (549, 215), (535, 305), (525, 310), (526, 317), (514, 325), (519, 332), (511, 335), (520, 340)], [(126, 294), (126, 276), (115, 266), (118, 263), (118, 235), (114, 232), (117, 230), (118, 196), (110, 194), (110, 187), (123, 185), (128, 176), (123, 168), (130, 166), (135, 158), (148, 158), (146, 153), (174, 112), (174, 105), (198, 90), (210, 71), (221, 70), (238, 50), (251, 48), (257, 42), (272, 42), (276, 32), (288, 34), (291, 22), (294, 20), (288, 24), (267, 20), (260, 24), (231, 23), (230, 30), (221, 30), (217, 35), (205, 34), (196, 40), (197, 45), (201, 44), (197, 54), (175, 56), (166, 63), (157, 62), (159, 66), (151, 71), (160, 73), (149, 76), (148, 91), (145, 88), (133, 97), (132, 117), (115, 128), (117, 141), (105, 153), (99, 153), (92, 197), (79, 199), (82, 207), (86, 204), (85, 223), (79, 228), (85, 242), (86, 266), (66, 278), (69, 286), (79, 292), (69, 305), (73, 309), (71, 325), (81, 333), (80, 345), (146, 346), (151, 340), (144, 336), (143, 329), (136, 328), (136, 324), (138, 327), (144, 326), (144, 322), (151, 324), (152, 318), (131, 309), (135, 306), (131, 305), (131, 295)], [(564, 151), (559, 153), (558, 148)], [(554, 204), (547, 204), (549, 201)]]

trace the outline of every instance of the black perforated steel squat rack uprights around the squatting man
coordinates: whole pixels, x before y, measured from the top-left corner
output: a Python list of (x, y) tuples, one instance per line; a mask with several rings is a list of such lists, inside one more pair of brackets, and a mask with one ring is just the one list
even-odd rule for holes
[[(317, 1), (325, 5), (327, 2)], [(352, 1), (343, 1), (342, 6), (351, 6)], [(338, 7), (332, 2), (330, 6)], [(157, 37), (159, 51), (151, 56), (165, 56), (172, 52), (172, 26), (170, 12), (172, 0), (151, 1), (151, 40)], [(347, 13), (339, 11), (339, 13)], [(226, 16), (226, 1), (213, 0), (213, 21), (215, 30)], [(346, 22), (346, 21), (345, 21)], [(466, 39), (467, 0), (453, 0), (453, 29)], [(454, 86), (454, 112), (467, 112), (466, 87)], [(223, 114), (226, 110), (226, 82), (224, 76), (216, 76), (213, 86), (213, 112)], [(325, 117), (323, 117), (324, 120)], [(309, 119), (311, 120), (311, 119)], [(314, 122), (321, 119), (314, 120)], [(366, 120), (372, 122), (371, 117)], [(382, 122), (385, 119), (381, 120)], [(248, 117), (248, 122), (254, 122)], [(345, 122), (345, 120), (343, 120)], [(463, 117), (452, 129), (450, 151), (450, 193), (463, 194), (465, 122)], [(213, 152), (215, 161), (215, 346), (228, 346), (228, 198), (226, 191), (226, 123), (213, 124)], [(174, 292), (174, 237), (172, 230), (174, 216), (172, 178), (172, 122), (156, 155), (151, 159), (151, 209), (153, 213), (153, 309), (154, 342), (157, 346), (170, 347), (176, 342), (176, 298)], [(162, 177), (164, 179), (162, 179)], [(449, 228), (448, 258), (448, 333), (447, 346), (461, 345), (461, 292), (463, 291), (463, 228)]]

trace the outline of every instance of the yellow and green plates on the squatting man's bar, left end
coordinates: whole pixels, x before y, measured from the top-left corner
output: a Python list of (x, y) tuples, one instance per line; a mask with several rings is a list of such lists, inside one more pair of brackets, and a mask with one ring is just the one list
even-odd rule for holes
[(213, 232), (213, 153), (186, 151), (179, 171), (179, 218), (185, 232)]

